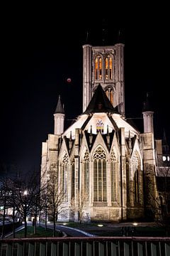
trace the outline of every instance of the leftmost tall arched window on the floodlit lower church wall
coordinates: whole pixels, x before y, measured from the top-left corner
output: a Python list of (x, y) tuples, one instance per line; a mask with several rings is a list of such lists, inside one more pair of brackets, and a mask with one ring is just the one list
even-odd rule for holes
[(64, 201), (68, 201), (68, 193), (67, 193), (67, 186), (68, 186), (68, 163), (69, 159), (67, 154), (64, 154), (64, 157), (62, 159), (62, 166), (61, 166), (61, 179), (62, 179), (62, 193), (64, 193)]

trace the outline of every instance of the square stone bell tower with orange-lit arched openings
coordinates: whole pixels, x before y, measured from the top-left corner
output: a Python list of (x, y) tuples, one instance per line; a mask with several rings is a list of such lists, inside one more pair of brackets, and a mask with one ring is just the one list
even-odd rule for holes
[(125, 116), (124, 44), (83, 46), (83, 112), (101, 84), (113, 107)]

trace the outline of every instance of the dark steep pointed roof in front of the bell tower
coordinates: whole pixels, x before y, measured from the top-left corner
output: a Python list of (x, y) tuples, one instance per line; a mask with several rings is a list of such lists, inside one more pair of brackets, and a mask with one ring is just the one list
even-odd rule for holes
[(118, 113), (111, 104), (110, 100), (108, 100), (108, 97), (106, 96), (106, 93), (103, 91), (103, 88), (100, 84), (96, 88), (94, 95), (83, 114), (90, 114), (95, 112)]

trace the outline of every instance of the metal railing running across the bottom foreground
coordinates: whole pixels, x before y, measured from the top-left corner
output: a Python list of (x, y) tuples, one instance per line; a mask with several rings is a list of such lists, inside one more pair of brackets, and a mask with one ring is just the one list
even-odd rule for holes
[(0, 256), (169, 256), (170, 238), (1, 239)]

